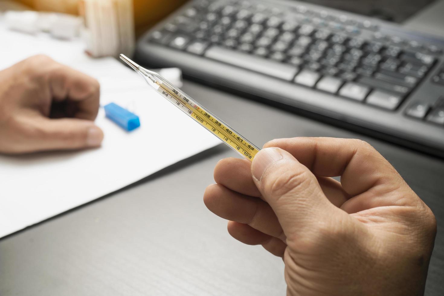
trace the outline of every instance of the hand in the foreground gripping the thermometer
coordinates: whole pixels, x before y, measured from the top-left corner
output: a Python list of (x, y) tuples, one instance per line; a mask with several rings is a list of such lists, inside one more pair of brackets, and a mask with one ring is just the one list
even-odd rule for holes
[(235, 239), (283, 257), (287, 295), (424, 294), (436, 220), (381, 154), (336, 138), (264, 148), (218, 162), (204, 202)]

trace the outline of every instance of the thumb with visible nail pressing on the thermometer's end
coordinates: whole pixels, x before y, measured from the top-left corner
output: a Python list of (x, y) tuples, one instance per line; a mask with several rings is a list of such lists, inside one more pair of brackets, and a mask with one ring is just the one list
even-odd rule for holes
[(339, 210), (325, 197), (312, 172), (285, 150), (262, 149), (254, 157), (251, 172), (287, 237), (327, 223), (332, 211)]

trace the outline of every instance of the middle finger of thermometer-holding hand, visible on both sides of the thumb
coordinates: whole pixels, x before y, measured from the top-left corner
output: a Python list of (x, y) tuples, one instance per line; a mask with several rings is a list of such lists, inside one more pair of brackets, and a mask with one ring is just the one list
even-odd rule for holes
[[(251, 162), (240, 158), (225, 158), (214, 168), (214, 180), (233, 191), (260, 197), (261, 193), (251, 176)], [(318, 177), (319, 185), (327, 198), (340, 207), (350, 195), (342, 189), (341, 183), (332, 178)]]

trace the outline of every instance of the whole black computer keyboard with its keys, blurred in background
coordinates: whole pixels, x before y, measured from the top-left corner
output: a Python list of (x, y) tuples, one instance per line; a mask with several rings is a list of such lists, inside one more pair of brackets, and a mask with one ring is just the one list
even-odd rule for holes
[(444, 156), (443, 48), (300, 1), (195, 0), (147, 32), (136, 59)]

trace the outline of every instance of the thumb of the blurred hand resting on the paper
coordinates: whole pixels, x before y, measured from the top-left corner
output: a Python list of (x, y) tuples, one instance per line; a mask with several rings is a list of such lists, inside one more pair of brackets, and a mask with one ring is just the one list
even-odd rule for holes
[(34, 126), (39, 132), (29, 143), (33, 151), (98, 147), (103, 140), (103, 131), (90, 120), (39, 118)]

